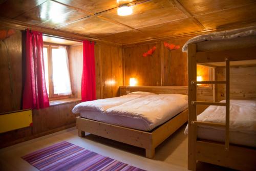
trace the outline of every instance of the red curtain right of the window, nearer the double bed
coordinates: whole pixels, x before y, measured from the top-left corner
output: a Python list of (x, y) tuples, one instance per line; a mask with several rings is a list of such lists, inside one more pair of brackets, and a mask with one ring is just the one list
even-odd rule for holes
[(94, 42), (83, 41), (82, 101), (96, 99)]

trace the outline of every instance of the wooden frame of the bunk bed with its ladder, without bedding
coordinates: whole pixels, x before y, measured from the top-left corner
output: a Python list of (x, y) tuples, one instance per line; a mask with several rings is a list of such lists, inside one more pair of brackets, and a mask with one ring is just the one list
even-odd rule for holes
[[(236, 61), (238, 65), (255, 65), (256, 64), (256, 36), (246, 47), (232, 46), (225, 49), (217, 47), (216, 49), (204, 49), (198, 44), (188, 45), (188, 169), (196, 170), (197, 161), (212, 163), (220, 166), (230, 167), (239, 170), (256, 170), (256, 149), (229, 144), (229, 68), (230, 61)], [(220, 43), (220, 41), (217, 41)], [(207, 41), (200, 44), (208, 44)], [(243, 42), (242, 42), (243, 44)], [(228, 45), (228, 44), (227, 44)], [(218, 46), (218, 45), (215, 45)], [(209, 46), (212, 47), (212, 46)], [(240, 60), (250, 60), (249, 62), (239, 63)], [(221, 62), (226, 66), (226, 81), (196, 81), (197, 63), (205, 66), (214, 66), (214, 62)], [(223, 66), (223, 65), (221, 65)], [(197, 101), (197, 83), (202, 84), (226, 84), (226, 103), (202, 102)], [(226, 123), (209, 123), (197, 121), (197, 105), (223, 105), (226, 106)], [(197, 126), (209, 125), (225, 127), (225, 143), (215, 141), (199, 140), (197, 138)]]

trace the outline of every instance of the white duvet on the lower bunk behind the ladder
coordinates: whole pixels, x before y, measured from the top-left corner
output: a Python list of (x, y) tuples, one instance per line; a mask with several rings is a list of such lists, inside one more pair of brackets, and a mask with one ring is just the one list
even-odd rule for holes
[[(225, 102), (222, 100), (220, 102)], [(225, 123), (225, 106), (209, 106), (204, 112), (197, 116), (198, 121)], [(230, 131), (247, 134), (256, 134), (256, 100), (230, 100)], [(221, 127), (210, 127), (212, 129), (224, 130)], [(185, 134), (188, 133), (186, 127)]]

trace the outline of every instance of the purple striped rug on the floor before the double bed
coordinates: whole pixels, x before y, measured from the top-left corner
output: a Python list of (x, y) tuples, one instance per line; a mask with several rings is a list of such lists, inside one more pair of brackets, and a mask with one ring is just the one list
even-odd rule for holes
[(66, 141), (42, 148), (22, 158), (39, 170), (143, 170)]

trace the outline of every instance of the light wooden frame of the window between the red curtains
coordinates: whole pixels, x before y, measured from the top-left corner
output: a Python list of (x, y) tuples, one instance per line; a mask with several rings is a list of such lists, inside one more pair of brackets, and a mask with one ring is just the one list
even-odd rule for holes
[[(49, 42), (44, 42), (44, 48), (47, 48), (47, 59), (48, 59), (48, 79), (49, 79), (49, 100), (58, 100), (58, 99), (66, 99), (71, 98), (72, 92), (70, 95), (58, 95), (54, 94), (54, 87), (53, 87), (53, 65), (52, 65), (52, 49), (59, 49), (59, 47), (66, 47), (67, 52), (68, 46), (66, 45), (59, 45), (53, 44)], [(69, 55), (68, 55), (69, 58)]]

